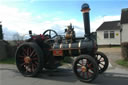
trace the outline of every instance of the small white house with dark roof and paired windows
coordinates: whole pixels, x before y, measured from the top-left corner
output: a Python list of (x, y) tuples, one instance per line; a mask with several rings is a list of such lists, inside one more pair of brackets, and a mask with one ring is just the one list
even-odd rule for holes
[(120, 21), (104, 22), (97, 30), (98, 45), (120, 45)]

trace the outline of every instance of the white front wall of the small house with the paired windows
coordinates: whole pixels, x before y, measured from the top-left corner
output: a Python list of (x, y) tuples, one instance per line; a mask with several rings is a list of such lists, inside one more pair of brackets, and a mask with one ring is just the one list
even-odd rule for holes
[[(112, 31), (112, 30), (111, 30)], [(104, 31), (97, 31), (97, 44), (98, 45), (120, 45), (120, 30), (114, 30), (115, 38), (105, 38)], [(117, 35), (118, 34), (118, 35)]]

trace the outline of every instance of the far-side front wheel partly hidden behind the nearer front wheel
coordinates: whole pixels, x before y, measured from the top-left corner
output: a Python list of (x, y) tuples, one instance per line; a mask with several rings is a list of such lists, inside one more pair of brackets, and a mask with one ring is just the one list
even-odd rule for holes
[(108, 68), (109, 61), (107, 56), (102, 52), (96, 52), (96, 59), (98, 62), (99, 73), (101, 74)]

